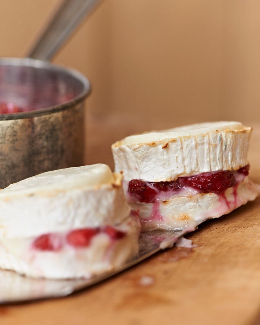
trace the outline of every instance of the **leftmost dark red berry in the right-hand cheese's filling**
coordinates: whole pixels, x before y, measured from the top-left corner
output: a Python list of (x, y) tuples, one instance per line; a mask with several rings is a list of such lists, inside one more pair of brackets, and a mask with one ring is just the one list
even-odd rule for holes
[(139, 202), (153, 203), (155, 202), (155, 196), (157, 191), (150, 188), (146, 182), (141, 179), (132, 179), (128, 185), (128, 193), (132, 199)]

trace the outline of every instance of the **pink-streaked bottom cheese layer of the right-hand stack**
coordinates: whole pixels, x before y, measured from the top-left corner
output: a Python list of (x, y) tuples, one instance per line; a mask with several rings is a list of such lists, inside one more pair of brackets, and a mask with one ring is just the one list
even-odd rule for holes
[(153, 229), (183, 230), (188, 226), (218, 218), (234, 209), (253, 201), (260, 194), (260, 186), (248, 177), (238, 186), (226, 191), (200, 193), (188, 197), (176, 197), (155, 203), (129, 202), (139, 215), (141, 231)]

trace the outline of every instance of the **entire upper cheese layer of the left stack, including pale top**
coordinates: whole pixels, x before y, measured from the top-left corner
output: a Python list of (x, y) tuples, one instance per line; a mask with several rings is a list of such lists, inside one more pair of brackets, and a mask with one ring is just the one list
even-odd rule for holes
[(80, 179), (85, 177), (82, 175), (88, 169), (85, 167), (88, 166), (69, 168), (68, 173), (55, 171), (62, 178), (53, 179), (55, 182), (60, 179), (59, 188), (49, 179), (43, 179), (41, 176), (47, 174), (44, 173), (1, 190), (0, 238), (32, 237), (121, 223), (130, 213), (123, 194), (122, 175), (112, 174), (108, 166), (101, 166), (101, 175), (95, 175), (98, 182), (95, 180), (90, 185), (89, 177), (84, 182)]

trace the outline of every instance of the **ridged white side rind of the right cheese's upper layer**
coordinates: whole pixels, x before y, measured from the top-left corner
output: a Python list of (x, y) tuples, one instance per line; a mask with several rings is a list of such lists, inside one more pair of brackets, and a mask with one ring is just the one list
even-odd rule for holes
[[(211, 128), (209, 128), (211, 130)], [(204, 128), (203, 128), (204, 130)], [(180, 176), (237, 170), (248, 164), (251, 128), (214, 131), (140, 144), (112, 145), (115, 171), (124, 179), (172, 181)]]

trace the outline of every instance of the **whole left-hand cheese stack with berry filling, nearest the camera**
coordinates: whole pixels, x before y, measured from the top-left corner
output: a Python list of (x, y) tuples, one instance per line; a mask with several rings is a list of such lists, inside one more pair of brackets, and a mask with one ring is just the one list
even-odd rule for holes
[(0, 191), (0, 267), (32, 277), (89, 278), (138, 254), (122, 175), (104, 164), (51, 171)]

